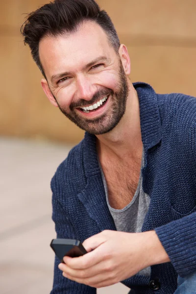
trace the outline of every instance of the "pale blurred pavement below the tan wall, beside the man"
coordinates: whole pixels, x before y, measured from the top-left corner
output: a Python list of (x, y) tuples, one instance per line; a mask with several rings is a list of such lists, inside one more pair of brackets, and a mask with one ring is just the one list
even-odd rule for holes
[[(50, 179), (71, 145), (0, 138), (0, 293), (49, 294), (55, 238)], [(121, 283), (98, 294), (126, 294)]]

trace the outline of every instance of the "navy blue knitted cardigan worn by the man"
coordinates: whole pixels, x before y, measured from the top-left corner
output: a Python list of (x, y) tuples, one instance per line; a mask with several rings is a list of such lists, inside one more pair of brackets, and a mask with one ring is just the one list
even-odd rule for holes
[[(146, 165), (143, 189), (150, 205), (142, 231), (156, 231), (171, 262), (151, 267), (150, 279), (135, 275), (124, 285), (152, 294), (147, 286), (159, 278), (157, 294), (173, 294), (177, 274), (196, 270), (196, 98), (158, 95), (145, 83), (135, 83), (140, 101)], [(85, 134), (58, 167), (51, 181), (52, 219), (57, 238), (83, 242), (105, 229), (116, 230), (108, 210), (98, 166), (96, 137)], [(127, 257), (128, 258), (128, 257)], [(51, 294), (95, 294), (96, 289), (62, 276), (55, 260)]]

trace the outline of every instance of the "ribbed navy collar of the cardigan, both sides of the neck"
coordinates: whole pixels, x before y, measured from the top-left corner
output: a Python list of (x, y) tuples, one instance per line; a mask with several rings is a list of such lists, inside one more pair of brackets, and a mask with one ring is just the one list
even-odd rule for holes
[[(149, 148), (154, 147), (160, 142), (162, 135), (157, 94), (146, 83), (133, 83), (133, 86), (139, 97), (142, 142), (145, 152), (147, 152)], [(98, 174), (100, 169), (97, 157), (96, 136), (87, 132), (84, 137), (83, 155), (86, 176)]]

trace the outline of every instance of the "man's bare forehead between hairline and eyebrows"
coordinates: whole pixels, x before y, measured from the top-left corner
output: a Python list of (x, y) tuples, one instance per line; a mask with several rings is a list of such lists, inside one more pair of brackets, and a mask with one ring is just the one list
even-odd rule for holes
[(104, 30), (96, 23), (86, 22), (76, 32), (46, 36), (39, 44), (39, 55), (45, 73), (76, 71), (98, 56), (111, 58), (115, 51)]

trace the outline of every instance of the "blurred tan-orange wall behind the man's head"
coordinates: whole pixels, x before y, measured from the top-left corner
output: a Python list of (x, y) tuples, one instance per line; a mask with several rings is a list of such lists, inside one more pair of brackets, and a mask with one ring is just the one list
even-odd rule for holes
[[(25, 15), (48, 0), (0, 0), (0, 134), (78, 142), (83, 131), (49, 104), (24, 47)], [(99, 0), (129, 50), (131, 80), (196, 96), (195, 0)]]

